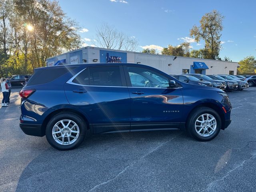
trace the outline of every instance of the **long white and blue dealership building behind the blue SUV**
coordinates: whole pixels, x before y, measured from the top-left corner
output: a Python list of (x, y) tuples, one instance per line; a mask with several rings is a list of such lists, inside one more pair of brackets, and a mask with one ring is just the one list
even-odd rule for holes
[(146, 54), (96, 47), (84, 47), (46, 59), (46, 66), (78, 63), (138, 63), (157, 68), (167, 74), (200, 73), (234, 74), (237, 62), (200, 59), (191, 57)]

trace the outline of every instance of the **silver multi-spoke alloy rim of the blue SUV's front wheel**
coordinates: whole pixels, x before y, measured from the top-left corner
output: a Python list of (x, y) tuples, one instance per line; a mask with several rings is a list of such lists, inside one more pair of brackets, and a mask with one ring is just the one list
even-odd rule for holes
[(217, 121), (211, 114), (200, 115), (195, 122), (195, 129), (198, 135), (208, 137), (212, 135), (217, 127)]

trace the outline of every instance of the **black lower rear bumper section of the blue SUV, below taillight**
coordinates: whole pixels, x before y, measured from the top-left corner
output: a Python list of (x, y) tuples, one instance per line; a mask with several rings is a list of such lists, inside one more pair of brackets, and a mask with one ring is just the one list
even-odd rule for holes
[(45, 135), (45, 131), (44, 129), (42, 129), (42, 125), (40, 124), (20, 123), (20, 128), (27, 135), (38, 136), (38, 137), (42, 137)]

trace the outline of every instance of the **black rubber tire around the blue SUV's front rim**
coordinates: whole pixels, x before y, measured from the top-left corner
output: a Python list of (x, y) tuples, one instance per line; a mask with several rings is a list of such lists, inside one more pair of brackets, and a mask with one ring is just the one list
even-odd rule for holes
[[(214, 116), (214, 118), (216, 119), (216, 129), (215, 131), (210, 135), (210, 136), (200, 136), (197, 132), (196, 132), (196, 128), (195, 128), (195, 123), (196, 120), (199, 116), (201, 116), (202, 114), (210, 114), (212, 116)], [(190, 134), (190, 136), (192, 136), (193, 138), (195, 138), (198, 141), (210, 141), (212, 139), (214, 139), (220, 132), (221, 129), (221, 118), (220, 115), (213, 110), (212, 108), (208, 108), (208, 107), (199, 107), (196, 108), (195, 110), (193, 110), (190, 115), (188, 116), (188, 119), (186, 121), (186, 130), (187, 132)]]

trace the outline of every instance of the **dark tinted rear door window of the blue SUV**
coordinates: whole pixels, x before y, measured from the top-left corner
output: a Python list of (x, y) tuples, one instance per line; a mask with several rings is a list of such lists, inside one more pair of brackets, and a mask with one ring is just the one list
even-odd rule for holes
[(122, 86), (119, 66), (86, 68), (72, 82), (90, 86)]

